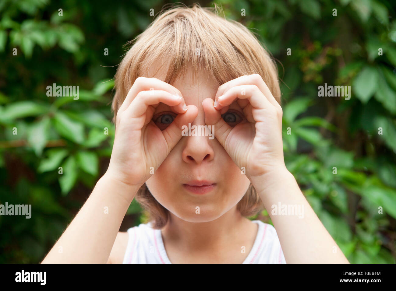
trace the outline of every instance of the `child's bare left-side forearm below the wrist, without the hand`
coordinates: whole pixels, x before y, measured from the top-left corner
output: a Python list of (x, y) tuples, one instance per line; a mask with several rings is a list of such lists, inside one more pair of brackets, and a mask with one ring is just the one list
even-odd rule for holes
[(107, 175), (101, 177), (42, 263), (106, 263), (137, 190)]

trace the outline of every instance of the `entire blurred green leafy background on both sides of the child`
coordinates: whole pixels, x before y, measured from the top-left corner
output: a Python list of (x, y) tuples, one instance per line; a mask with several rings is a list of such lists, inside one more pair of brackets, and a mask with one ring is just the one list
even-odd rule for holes
[[(0, 216), (0, 263), (44, 259), (105, 173), (123, 46), (167, 3), (0, 0), (0, 204), (32, 205), (30, 219)], [(351, 263), (395, 263), (395, 2), (215, 3), (277, 60), (286, 165), (324, 226)], [(79, 100), (48, 97), (53, 83), (80, 86)], [(318, 97), (325, 83), (350, 100)], [(121, 230), (145, 222), (134, 201)]]

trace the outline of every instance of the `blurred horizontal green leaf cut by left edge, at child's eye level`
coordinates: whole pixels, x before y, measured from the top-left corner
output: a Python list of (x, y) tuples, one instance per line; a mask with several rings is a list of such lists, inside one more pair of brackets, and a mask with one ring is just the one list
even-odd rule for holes
[(15, 118), (38, 116), (46, 113), (49, 107), (33, 101), (17, 101), (6, 107), (0, 115), (0, 120), (13, 120)]

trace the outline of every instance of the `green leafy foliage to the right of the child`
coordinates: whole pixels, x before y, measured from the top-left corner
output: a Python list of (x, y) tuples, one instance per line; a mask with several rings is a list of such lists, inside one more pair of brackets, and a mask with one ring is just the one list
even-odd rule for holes
[[(282, 64), (286, 165), (324, 226), (350, 262), (394, 263), (394, 6), (253, 0), (245, 17), (240, 4), (216, 3), (250, 27)], [(324, 83), (351, 86), (350, 100), (318, 97)]]

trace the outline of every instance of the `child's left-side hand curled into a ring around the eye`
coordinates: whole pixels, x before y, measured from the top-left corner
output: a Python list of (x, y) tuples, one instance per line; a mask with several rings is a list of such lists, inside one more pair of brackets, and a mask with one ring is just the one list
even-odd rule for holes
[[(163, 131), (152, 120), (160, 102), (179, 113)], [(185, 105), (181, 92), (170, 84), (157, 78), (137, 78), (117, 112), (106, 175), (128, 185), (143, 185), (150, 177), (150, 167), (156, 171), (181, 139), (182, 126), (198, 115), (194, 105)]]

